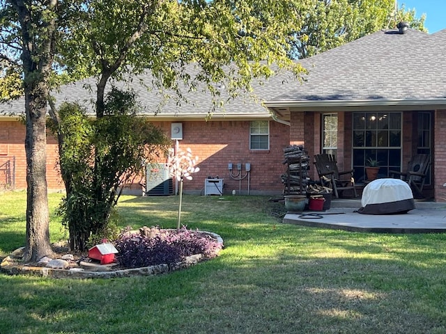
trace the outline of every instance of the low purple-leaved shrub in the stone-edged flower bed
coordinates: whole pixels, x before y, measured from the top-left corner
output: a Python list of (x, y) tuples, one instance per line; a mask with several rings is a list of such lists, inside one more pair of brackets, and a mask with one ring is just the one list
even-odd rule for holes
[(116, 239), (117, 260), (123, 267), (148, 267), (156, 264), (174, 264), (185, 257), (202, 254), (205, 258), (217, 256), (222, 245), (210, 235), (187, 230), (155, 230), (153, 237), (123, 231)]

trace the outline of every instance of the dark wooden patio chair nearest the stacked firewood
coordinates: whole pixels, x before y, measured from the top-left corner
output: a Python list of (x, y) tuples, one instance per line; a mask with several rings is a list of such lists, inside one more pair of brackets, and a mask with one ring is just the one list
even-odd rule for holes
[(333, 189), (334, 197), (339, 198), (339, 193), (344, 190), (353, 190), (357, 197), (353, 169), (339, 172), (336, 158), (332, 154), (316, 154), (314, 164), (323, 186)]

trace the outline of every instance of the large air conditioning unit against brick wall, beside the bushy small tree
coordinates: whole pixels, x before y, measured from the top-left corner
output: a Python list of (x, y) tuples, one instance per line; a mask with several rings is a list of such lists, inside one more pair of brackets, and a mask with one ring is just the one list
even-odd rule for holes
[(174, 193), (174, 182), (166, 164), (146, 166), (146, 196), (169, 196)]

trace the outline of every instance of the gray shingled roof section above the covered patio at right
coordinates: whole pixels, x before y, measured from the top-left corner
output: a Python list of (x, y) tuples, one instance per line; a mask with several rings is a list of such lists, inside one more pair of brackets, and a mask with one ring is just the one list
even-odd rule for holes
[(446, 105), (446, 29), (378, 31), (301, 61), (306, 82), (267, 106)]

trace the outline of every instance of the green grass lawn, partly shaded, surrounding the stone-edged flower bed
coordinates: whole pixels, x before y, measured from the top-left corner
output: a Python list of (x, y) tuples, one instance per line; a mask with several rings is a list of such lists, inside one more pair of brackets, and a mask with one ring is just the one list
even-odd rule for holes
[[(51, 194), (54, 209), (61, 196)], [(0, 195), (0, 254), (24, 244), (24, 193)], [(178, 197), (125, 196), (122, 226), (176, 226)], [(266, 197), (185, 196), (219, 257), (168, 275), (0, 274), (0, 333), (446, 333), (446, 235), (282, 224)], [(385, 218), (385, 216), (383, 216)], [(63, 238), (52, 217), (52, 241)]]

